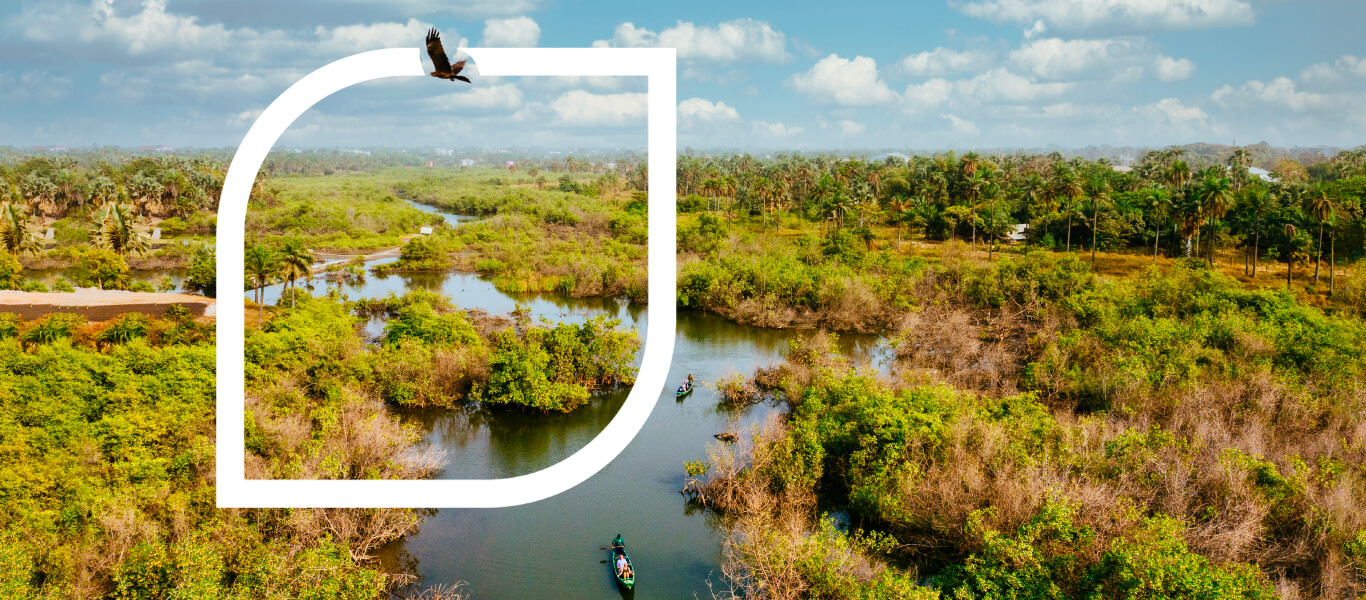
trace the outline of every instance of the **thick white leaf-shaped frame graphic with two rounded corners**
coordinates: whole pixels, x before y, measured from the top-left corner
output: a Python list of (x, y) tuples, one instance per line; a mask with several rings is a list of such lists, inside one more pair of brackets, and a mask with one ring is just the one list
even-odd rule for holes
[[(387, 77), (426, 77), (421, 48), (362, 52), (310, 72), (257, 118), (228, 167), (217, 224), (219, 507), (505, 507), (564, 492), (605, 467), (645, 425), (667, 387), (673, 355), (676, 55), (672, 48), (464, 48), (479, 75), (628, 75), (647, 78), (649, 336), (635, 387), (616, 417), (578, 452), (542, 470), (500, 480), (247, 480), (245, 477), (245, 269), (247, 195), (285, 128), (320, 100)], [(444, 82), (433, 82), (443, 85)]]

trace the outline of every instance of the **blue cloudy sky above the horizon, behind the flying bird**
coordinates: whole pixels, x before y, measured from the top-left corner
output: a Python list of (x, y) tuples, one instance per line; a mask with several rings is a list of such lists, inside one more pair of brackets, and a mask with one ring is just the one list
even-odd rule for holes
[[(1366, 144), (1362, 0), (19, 0), (0, 145), (235, 146), (332, 60), (421, 46), (673, 46), (679, 146)], [(370, 82), (283, 146), (645, 146), (641, 78)]]

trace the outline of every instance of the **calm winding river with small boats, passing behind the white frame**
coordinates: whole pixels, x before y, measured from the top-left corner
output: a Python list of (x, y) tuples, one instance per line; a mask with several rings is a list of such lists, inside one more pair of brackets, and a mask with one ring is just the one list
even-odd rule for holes
[[(417, 205), (434, 212), (430, 206)], [(454, 220), (451, 217), (455, 217)], [(467, 217), (447, 216), (452, 224)], [(518, 303), (533, 318), (582, 321), (609, 314), (642, 328), (646, 308), (611, 298), (557, 294), (505, 294), (473, 273), (369, 275), (359, 283), (316, 283), (314, 294), (339, 287), (350, 298), (402, 294), (408, 288), (441, 291), (460, 308), (510, 313)], [(266, 288), (275, 302), (280, 286)], [(250, 292), (249, 292), (250, 297)], [(366, 331), (377, 336), (382, 320)], [(706, 582), (720, 584), (723, 532), (705, 511), (690, 510), (679, 491), (683, 463), (706, 458), (714, 433), (738, 420), (742, 429), (764, 422), (776, 410), (757, 406), (739, 415), (720, 411), (708, 384), (731, 373), (781, 359), (798, 331), (738, 325), (721, 317), (680, 312), (671, 385), (660, 391), (650, 420), (605, 469), (559, 496), (511, 508), (437, 510), (419, 530), (381, 549), (381, 562), (406, 564), (421, 574), (417, 586), (466, 582), (474, 599), (601, 599), (620, 593), (598, 548), (620, 533), (637, 570), (641, 599), (710, 597)], [(874, 336), (843, 336), (846, 354), (877, 364), (887, 354)], [(673, 387), (693, 373), (697, 391), (675, 399)], [(600, 394), (571, 414), (510, 411), (403, 410), (426, 432), (425, 443), (447, 451), (438, 477), (508, 477), (538, 470), (591, 440), (615, 415), (626, 391)]]

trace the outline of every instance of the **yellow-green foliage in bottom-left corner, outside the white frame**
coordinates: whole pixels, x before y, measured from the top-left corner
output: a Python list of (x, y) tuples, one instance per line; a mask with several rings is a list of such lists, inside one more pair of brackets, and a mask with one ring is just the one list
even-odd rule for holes
[(214, 507), (212, 336), (120, 323), (150, 333), (0, 340), (0, 597), (378, 597), (346, 543)]

